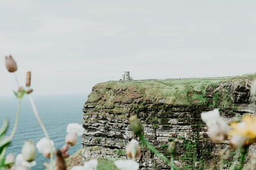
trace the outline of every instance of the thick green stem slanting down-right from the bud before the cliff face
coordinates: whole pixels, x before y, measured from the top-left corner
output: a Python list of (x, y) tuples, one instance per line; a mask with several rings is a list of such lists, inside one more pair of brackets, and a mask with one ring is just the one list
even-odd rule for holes
[(161, 160), (164, 161), (164, 163), (168, 164), (168, 166), (172, 167), (174, 170), (177, 170), (178, 168), (172, 163), (170, 162), (170, 160), (168, 160), (166, 157), (164, 157), (164, 155), (162, 153), (160, 153), (158, 150), (156, 150), (156, 148), (154, 148), (154, 146), (150, 145), (148, 143), (148, 141), (144, 138), (143, 134), (141, 134), (141, 132), (138, 134), (139, 138), (141, 139), (141, 142), (147, 146), (147, 148), (155, 153)]

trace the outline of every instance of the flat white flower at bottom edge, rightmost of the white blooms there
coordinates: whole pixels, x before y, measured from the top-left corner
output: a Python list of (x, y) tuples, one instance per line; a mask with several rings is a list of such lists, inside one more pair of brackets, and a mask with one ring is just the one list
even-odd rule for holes
[(120, 170), (138, 170), (139, 164), (134, 160), (116, 160), (115, 166)]

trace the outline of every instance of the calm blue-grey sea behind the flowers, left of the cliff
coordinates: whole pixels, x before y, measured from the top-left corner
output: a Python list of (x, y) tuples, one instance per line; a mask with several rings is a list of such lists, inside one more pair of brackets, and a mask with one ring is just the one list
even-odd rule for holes
[[(33, 99), (42, 122), (50, 138), (54, 141), (55, 148), (60, 149), (61, 146), (65, 144), (67, 125), (69, 123), (82, 124), (82, 108), (87, 99), (87, 95), (33, 96)], [(14, 96), (0, 97), (0, 125), (3, 124), (4, 118), (8, 118), (9, 127), (7, 134), (10, 134), (13, 128), (17, 103), (18, 101)], [(17, 131), (4, 156), (8, 153), (18, 155), (21, 153), (21, 148), (25, 140), (31, 139), (36, 145), (41, 138), (44, 138), (44, 132), (36, 120), (28, 96), (25, 96), (21, 103)], [(72, 155), (72, 153), (75, 153), (79, 148), (81, 148), (81, 136), (79, 136), (77, 144), (69, 148), (68, 153)], [(45, 159), (44, 156), (37, 151), (36, 166), (32, 169), (44, 169), (44, 167), (42, 167), (44, 162), (49, 162), (49, 159)]]

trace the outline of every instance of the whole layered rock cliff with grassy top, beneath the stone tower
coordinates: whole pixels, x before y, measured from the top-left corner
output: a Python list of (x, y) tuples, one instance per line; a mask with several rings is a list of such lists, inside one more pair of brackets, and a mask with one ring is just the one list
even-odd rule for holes
[[(125, 156), (125, 145), (136, 138), (129, 117), (138, 115), (145, 137), (164, 155), (177, 141), (175, 163), (184, 169), (203, 167), (220, 148), (207, 138), (202, 111), (219, 108), (227, 118), (255, 112), (252, 94), (256, 75), (148, 81), (108, 81), (93, 87), (84, 104), (83, 159)], [(252, 92), (251, 92), (252, 91)], [(156, 155), (141, 148), (141, 169), (165, 169)]]

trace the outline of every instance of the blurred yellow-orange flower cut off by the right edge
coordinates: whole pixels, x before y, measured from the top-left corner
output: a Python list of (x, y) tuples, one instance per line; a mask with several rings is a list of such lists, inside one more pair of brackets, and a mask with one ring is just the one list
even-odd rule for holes
[[(241, 123), (232, 122), (230, 124), (230, 136), (243, 136), (248, 141), (256, 139), (256, 118), (250, 115), (244, 115)], [(248, 141), (246, 143), (248, 143)], [(250, 142), (250, 143), (251, 143)]]

